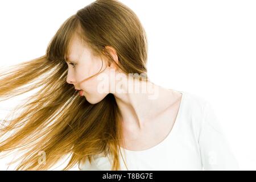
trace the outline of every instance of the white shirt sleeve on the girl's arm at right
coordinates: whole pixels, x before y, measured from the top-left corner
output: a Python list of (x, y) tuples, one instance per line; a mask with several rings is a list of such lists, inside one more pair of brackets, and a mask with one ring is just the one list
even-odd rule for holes
[(199, 135), (204, 170), (240, 170), (210, 102), (205, 101)]

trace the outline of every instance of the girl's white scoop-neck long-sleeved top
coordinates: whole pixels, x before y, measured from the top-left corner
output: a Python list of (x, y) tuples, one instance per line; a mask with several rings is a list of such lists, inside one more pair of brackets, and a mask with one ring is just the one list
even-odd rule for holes
[[(239, 170), (209, 101), (181, 92), (176, 121), (167, 137), (142, 151), (121, 148), (121, 170)], [(123, 163), (123, 160), (126, 161)], [(81, 170), (111, 170), (109, 156), (95, 155)]]

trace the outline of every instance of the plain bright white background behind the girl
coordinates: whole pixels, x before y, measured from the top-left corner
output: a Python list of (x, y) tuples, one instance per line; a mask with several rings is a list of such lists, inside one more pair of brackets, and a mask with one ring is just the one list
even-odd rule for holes
[[(0, 1), (0, 67), (44, 55), (61, 23), (90, 2)], [(121, 2), (146, 30), (150, 80), (210, 101), (241, 169), (255, 170), (256, 2)], [(0, 118), (6, 106), (0, 102)]]

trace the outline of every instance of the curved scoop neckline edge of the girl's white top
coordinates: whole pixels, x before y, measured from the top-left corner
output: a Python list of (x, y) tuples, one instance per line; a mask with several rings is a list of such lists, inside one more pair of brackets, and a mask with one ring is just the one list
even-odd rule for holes
[(162, 142), (156, 144), (156, 145), (153, 146), (153, 147), (147, 148), (147, 149), (145, 149), (145, 150), (137, 150), (137, 151), (134, 151), (134, 150), (127, 150), (126, 148), (123, 148), (123, 147), (120, 146), (120, 148), (121, 148), (122, 150), (124, 150), (124, 151), (126, 151), (126, 152), (130, 152), (130, 153), (147, 152), (147, 151), (150, 151), (150, 150), (154, 150), (155, 148), (160, 147), (160, 146), (162, 146), (164, 143), (167, 142), (168, 138), (170, 138), (170, 137), (174, 134), (174, 132), (175, 132), (175, 130), (176, 130), (176, 128), (177, 128), (177, 125), (179, 125), (181, 110), (182, 110), (183, 102), (184, 102), (184, 94), (185, 94), (185, 92), (179, 91), (179, 90), (176, 90), (176, 91), (177, 91), (177, 92), (180, 92), (180, 93), (182, 94), (182, 95), (181, 95), (181, 100), (180, 100), (180, 106), (179, 106), (179, 110), (177, 111), (177, 117), (176, 117), (176, 119), (175, 119), (174, 125), (172, 126), (172, 129), (171, 129), (171, 131), (169, 132), (169, 134), (167, 135), (167, 137), (164, 138), (164, 139), (162, 140)]

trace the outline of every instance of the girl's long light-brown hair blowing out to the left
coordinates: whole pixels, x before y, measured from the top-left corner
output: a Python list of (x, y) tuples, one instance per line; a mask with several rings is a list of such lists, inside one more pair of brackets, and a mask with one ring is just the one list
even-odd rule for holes
[[(78, 10), (61, 24), (46, 55), (0, 73), (0, 97), (4, 100), (38, 89), (16, 107), (23, 109), (18, 116), (1, 121), (0, 152), (24, 151), (15, 170), (47, 170), (71, 155), (63, 169), (68, 170), (86, 160), (91, 162), (102, 152), (112, 156), (112, 170), (120, 169), (122, 116), (114, 95), (109, 93), (97, 104), (90, 104), (66, 81), (65, 60), (74, 35), (79, 35), (94, 55), (109, 61), (114, 60), (105, 46), (115, 48), (117, 66), (124, 73), (147, 74), (146, 33), (129, 7), (115, 0), (97, 0)], [(18, 113), (18, 109), (12, 113)], [(40, 164), (42, 151), (46, 163)]]

